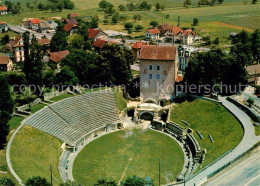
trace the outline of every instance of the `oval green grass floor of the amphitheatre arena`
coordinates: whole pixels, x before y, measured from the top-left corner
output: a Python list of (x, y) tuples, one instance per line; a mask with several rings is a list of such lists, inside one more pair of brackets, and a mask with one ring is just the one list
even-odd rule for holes
[(99, 178), (118, 182), (127, 176), (149, 176), (158, 185), (158, 161), (161, 159), (161, 182), (165, 171), (176, 177), (181, 172), (184, 156), (170, 137), (151, 130), (135, 129), (125, 138), (126, 130), (100, 137), (87, 145), (73, 165), (74, 179), (82, 185), (93, 185)]

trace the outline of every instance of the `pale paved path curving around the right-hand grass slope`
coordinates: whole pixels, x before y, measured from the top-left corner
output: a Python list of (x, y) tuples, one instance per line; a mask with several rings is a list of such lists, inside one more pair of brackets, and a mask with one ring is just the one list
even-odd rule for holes
[[(226, 100), (226, 97), (219, 97), (219, 100), (222, 102), (223, 106), (225, 106), (230, 112), (232, 112), (241, 122), (244, 128), (244, 137), (242, 141), (235, 147), (233, 151), (231, 151), (229, 154), (224, 156), (222, 159), (205, 169), (204, 171), (200, 172), (196, 176), (194, 176), (192, 179), (186, 182), (187, 186), (194, 186), (196, 183), (201, 182), (202, 180), (205, 180), (207, 176), (222, 166), (226, 165), (230, 161), (234, 160), (236, 157), (241, 155), (242, 153), (246, 152), (248, 149), (250, 149), (254, 144), (256, 144), (258, 141), (260, 141), (260, 136), (255, 136), (255, 131), (253, 127), (253, 123), (250, 119), (250, 117), (240, 110), (238, 107), (236, 107), (234, 104), (230, 103)], [(224, 145), (224, 144), (223, 144)], [(181, 184), (180, 184), (181, 185)]]

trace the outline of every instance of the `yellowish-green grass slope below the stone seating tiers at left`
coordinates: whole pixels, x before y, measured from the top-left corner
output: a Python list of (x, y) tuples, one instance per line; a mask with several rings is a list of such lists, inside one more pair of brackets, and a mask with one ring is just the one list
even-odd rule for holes
[(58, 171), (61, 144), (49, 134), (25, 125), (15, 136), (10, 152), (13, 168), (23, 182), (38, 175), (50, 182), (52, 165), (54, 185), (62, 183)]

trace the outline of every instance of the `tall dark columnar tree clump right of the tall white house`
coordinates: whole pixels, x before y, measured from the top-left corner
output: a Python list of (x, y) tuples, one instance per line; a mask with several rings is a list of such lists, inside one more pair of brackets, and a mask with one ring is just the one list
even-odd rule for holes
[(39, 95), (41, 93), (40, 87), (43, 83), (43, 53), (36, 37), (33, 35), (31, 42), (29, 42), (29, 35), (28, 31), (23, 34), (25, 56), (23, 71), (27, 82), (33, 86), (31, 87), (32, 91)]

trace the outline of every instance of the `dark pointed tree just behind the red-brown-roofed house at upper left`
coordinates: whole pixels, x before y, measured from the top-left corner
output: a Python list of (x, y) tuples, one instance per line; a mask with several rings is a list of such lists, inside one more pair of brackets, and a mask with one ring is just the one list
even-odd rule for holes
[(58, 22), (56, 33), (51, 39), (50, 49), (52, 52), (66, 50), (68, 47), (67, 33), (63, 30), (63, 25)]

